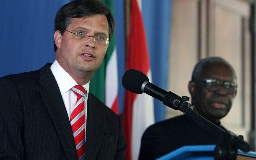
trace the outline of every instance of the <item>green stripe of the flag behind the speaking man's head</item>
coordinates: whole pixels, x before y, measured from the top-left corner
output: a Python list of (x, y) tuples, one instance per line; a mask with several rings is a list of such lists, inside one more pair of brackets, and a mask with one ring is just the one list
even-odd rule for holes
[[(113, 13), (113, 0), (102, 0)], [(111, 38), (111, 42), (108, 44), (107, 53), (102, 61), (99, 69), (94, 73), (93, 78), (90, 81), (90, 92), (93, 93), (99, 100), (105, 103), (105, 77), (106, 77), (106, 66), (115, 48), (116, 39), (115, 33)]]

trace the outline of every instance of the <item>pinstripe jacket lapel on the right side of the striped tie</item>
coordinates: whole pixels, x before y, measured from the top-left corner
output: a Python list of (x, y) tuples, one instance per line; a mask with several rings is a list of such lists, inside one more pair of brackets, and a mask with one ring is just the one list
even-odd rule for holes
[(96, 159), (105, 133), (105, 116), (96, 98), (89, 92), (87, 101), (85, 159)]

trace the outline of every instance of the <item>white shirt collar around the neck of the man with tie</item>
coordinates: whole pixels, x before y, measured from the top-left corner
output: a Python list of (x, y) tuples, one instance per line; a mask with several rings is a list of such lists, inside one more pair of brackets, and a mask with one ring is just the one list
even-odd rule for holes
[[(53, 62), (52, 66), (50, 66), (50, 69), (51, 69), (52, 74), (53, 74), (53, 76), (55, 77), (55, 79), (56, 79), (56, 81), (58, 83), (61, 95), (63, 95), (64, 93), (69, 91), (69, 89), (71, 89), (72, 87), (77, 85), (77, 82), (75, 82), (75, 80), (68, 74), (68, 72), (66, 72), (60, 66), (60, 64), (58, 63), (57, 60), (55, 60)], [(83, 88), (86, 89), (86, 91), (87, 91), (86, 97), (88, 98), (90, 82), (88, 82), (85, 85), (83, 85)]]

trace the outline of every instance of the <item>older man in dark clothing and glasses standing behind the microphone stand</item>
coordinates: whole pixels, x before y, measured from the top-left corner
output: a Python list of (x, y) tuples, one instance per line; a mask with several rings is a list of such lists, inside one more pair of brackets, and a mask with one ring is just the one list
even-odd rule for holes
[[(223, 58), (200, 60), (188, 83), (196, 113), (226, 130), (220, 119), (226, 116), (237, 93), (236, 73)], [(151, 125), (141, 139), (139, 159), (159, 158), (182, 146), (220, 144), (221, 137), (205, 124), (181, 115)]]

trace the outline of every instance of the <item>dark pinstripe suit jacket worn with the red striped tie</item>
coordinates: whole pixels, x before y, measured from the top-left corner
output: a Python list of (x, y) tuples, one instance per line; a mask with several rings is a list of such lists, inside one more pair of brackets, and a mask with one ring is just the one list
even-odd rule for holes
[[(75, 160), (77, 152), (57, 82), (46, 64), (0, 78), (0, 159)], [(88, 95), (85, 159), (123, 159), (121, 119)]]

